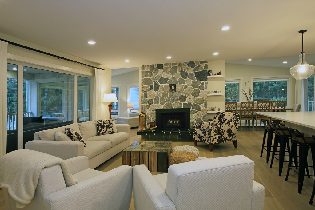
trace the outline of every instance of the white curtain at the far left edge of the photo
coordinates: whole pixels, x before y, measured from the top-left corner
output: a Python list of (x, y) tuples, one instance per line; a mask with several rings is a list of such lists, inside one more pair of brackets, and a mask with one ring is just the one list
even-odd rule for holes
[(0, 41), (0, 157), (7, 153), (7, 63), (8, 63), (8, 43)]

